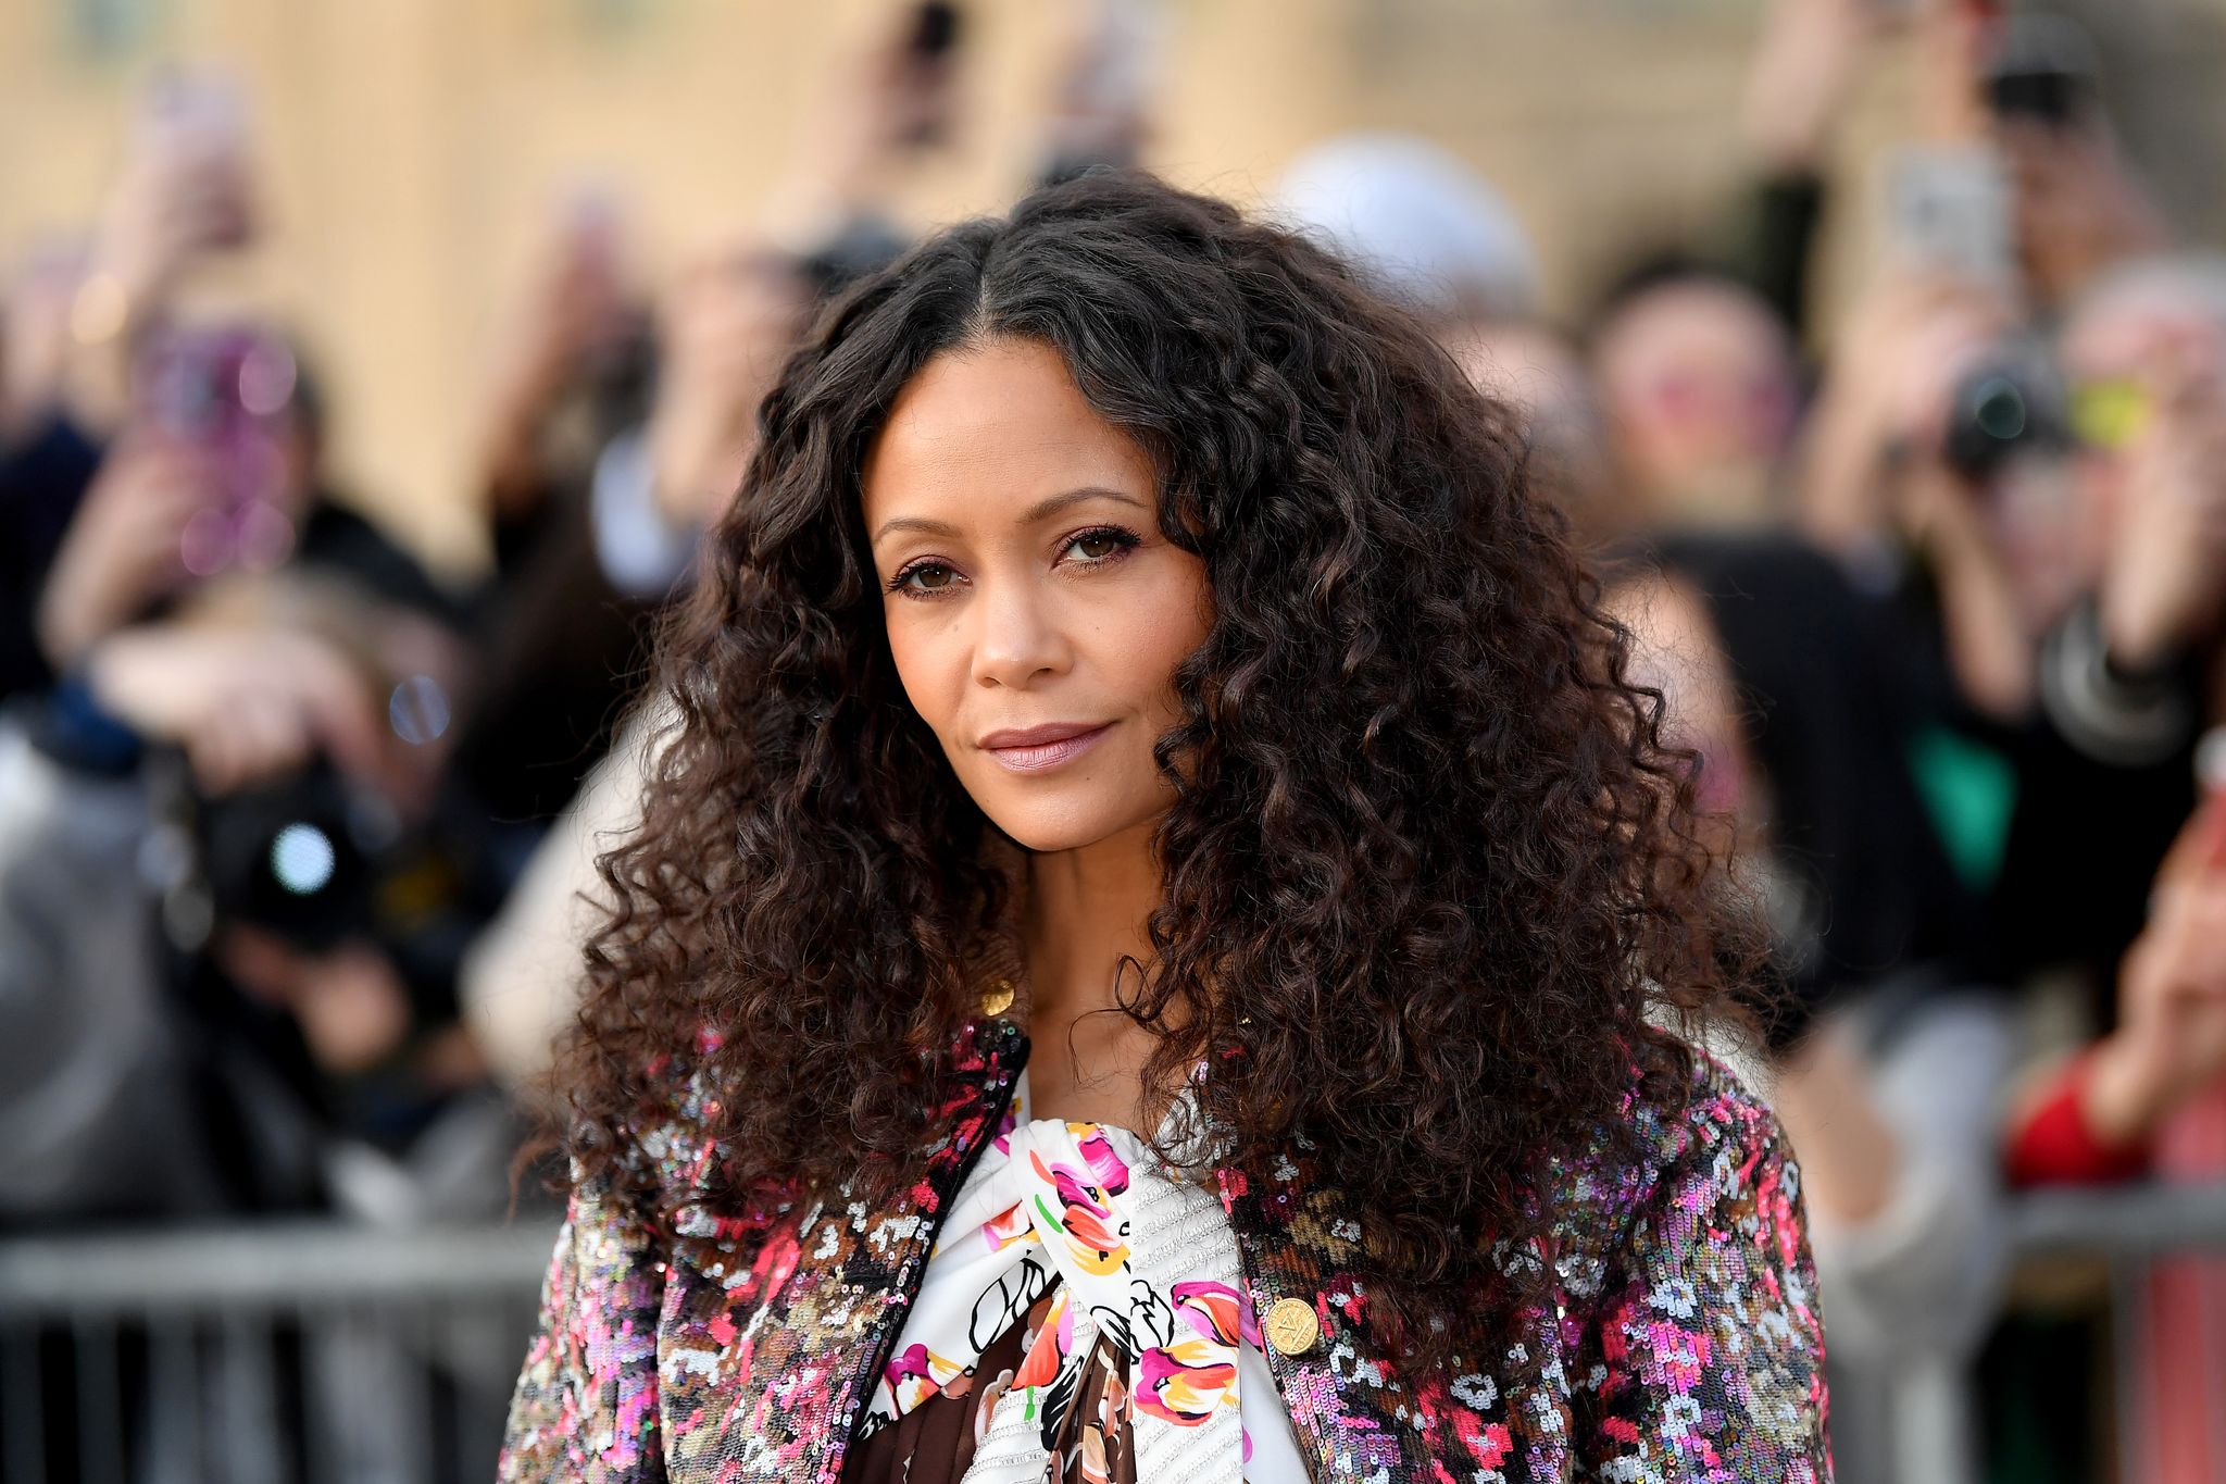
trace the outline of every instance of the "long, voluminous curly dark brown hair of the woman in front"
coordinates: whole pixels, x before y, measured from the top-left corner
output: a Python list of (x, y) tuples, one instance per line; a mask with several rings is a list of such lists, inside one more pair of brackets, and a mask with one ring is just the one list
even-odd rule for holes
[(939, 231), (764, 403), (659, 650), (643, 825), (601, 863), (577, 1170), (646, 1179), (637, 1130), (701, 1077), (737, 1208), (917, 1177), (1004, 883), (890, 661), (859, 472), (933, 356), (1004, 336), (1151, 456), (1213, 596), (1155, 752), (1146, 1086), (1211, 1068), (1224, 1164), (1311, 1141), (1371, 1213), (1385, 1308), (1483, 1319), (1494, 1244), (1554, 1215), (1545, 1161), (1616, 1126), (1634, 1072), (1678, 1097), (1690, 1052), (1652, 1026), (1752, 934), (1503, 409), (1329, 254), (1137, 174)]

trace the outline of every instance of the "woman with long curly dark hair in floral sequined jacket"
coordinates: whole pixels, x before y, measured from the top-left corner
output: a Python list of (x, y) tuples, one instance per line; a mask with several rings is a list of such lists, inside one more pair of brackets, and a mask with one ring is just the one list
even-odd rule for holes
[(766, 400), (505, 1480), (1814, 1480), (1750, 941), (1494, 407), (1086, 176)]

